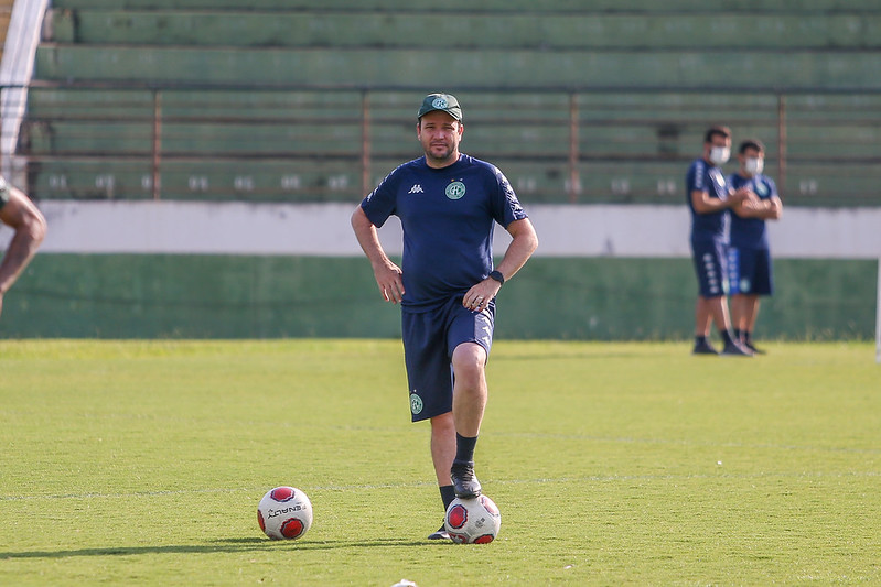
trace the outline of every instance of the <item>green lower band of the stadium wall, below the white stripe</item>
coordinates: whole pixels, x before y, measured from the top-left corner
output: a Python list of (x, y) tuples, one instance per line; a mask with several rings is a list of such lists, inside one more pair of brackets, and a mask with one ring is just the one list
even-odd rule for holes
[[(875, 261), (782, 259), (761, 338), (873, 337)], [(536, 258), (505, 285), (499, 338), (688, 339), (686, 259)], [(64, 254), (4, 301), (3, 338), (397, 337), (367, 262), (302, 256)]]

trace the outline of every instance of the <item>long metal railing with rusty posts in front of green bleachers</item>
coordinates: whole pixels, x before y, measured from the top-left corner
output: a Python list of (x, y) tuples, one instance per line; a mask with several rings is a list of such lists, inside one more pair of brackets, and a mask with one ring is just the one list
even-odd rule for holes
[[(423, 88), (33, 84), (14, 159), (37, 198), (355, 200), (421, 154)], [(881, 93), (463, 88), (463, 151), (548, 203), (676, 203), (711, 124), (767, 146), (796, 205), (881, 204)], [(8, 108), (22, 105), (7, 105)], [(6, 144), (6, 143), (3, 143)], [(727, 171), (734, 171), (730, 163)]]

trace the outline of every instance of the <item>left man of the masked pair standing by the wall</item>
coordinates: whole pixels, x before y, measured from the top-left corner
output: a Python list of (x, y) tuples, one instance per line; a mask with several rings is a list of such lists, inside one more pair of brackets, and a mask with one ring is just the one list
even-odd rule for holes
[(737, 192), (729, 188), (720, 165), (730, 155), (731, 131), (727, 127), (712, 127), (703, 137), (703, 155), (691, 163), (686, 175), (691, 254), (699, 287), (695, 307), (695, 355), (718, 354), (709, 341), (711, 323), (716, 323), (722, 335), (723, 355), (752, 355), (731, 336), (726, 302), (728, 210), (754, 197), (746, 188)]

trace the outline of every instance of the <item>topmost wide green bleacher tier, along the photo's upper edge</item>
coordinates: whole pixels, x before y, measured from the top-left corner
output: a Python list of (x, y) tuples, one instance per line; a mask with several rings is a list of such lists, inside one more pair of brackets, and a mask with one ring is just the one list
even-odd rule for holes
[[(755, 14), (635, 12), (588, 9), (568, 14), (464, 11), (438, 21), (432, 12), (352, 12), (339, 9), (250, 7), (213, 12), (183, 7), (151, 10), (78, 8), (50, 12), (52, 40), (87, 45), (197, 45), (284, 47), (401, 47), (422, 45), (426, 31), (440, 28), (449, 46), (513, 50), (754, 47), (864, 48), (877, 46), (881, 17), (864, 13)], [(533, 10), (535, 10), (533, 8)], [(395, 31), (389, 34), (389, 31)]]

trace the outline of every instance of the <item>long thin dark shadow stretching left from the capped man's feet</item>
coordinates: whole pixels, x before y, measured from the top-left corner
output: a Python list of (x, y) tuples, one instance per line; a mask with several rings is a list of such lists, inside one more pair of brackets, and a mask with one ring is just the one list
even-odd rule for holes
[[(443, 542), (453, 544), (452, 542)], [(169, 544), (165, 546), (114, 546), (107, 548), (78, 548), (71, 551), (22, 551), (2, 552), (0, 561), (28, 558), (67, 558), (72, 556), (138, 556), (141, 554), (214, 554), (244, 553), (253, 551), (334, 551), (339, 548), (407, 547), (433, 546), (438, 541), (413, 541), (407, 539), (370, 539), (344, 541), (276, 541), (269, 539), (222, 539), (211, 544)]]

